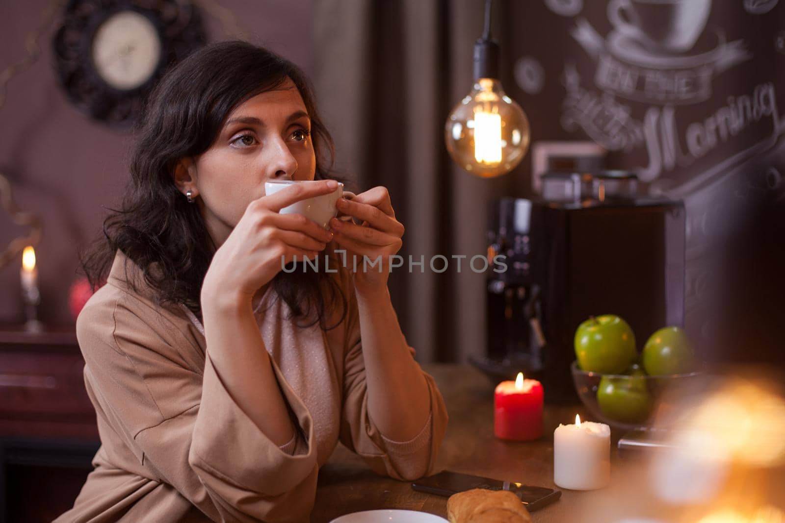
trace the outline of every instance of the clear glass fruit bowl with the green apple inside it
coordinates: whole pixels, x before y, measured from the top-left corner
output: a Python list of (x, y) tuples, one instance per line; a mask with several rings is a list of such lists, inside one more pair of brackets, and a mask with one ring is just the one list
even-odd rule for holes
[[(696, 385), (702, 372), (646, 376), (588, 372), (571, 365), (572, 382), (594, 419), (622, 430), (651, 427), (659, 412), (670, 410), (677, 390)], [(665, 394), (666, 391), (669, 394)], [(672, 394), (671, 394), (672, 393)]]

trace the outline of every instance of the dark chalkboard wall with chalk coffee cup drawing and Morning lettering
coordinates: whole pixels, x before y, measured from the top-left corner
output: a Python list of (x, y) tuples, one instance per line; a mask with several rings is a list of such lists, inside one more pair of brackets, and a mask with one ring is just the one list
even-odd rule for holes
[(785, 5), (539, 0), (506, 9), (505, 83), (532, 140), (592, 140), (644, 191), (684, 200), (692, 336), (741, 359), (783, 347)]

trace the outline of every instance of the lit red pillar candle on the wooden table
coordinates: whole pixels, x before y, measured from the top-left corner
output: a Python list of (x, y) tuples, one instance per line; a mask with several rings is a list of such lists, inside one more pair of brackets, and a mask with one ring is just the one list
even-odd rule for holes
[(494, 434), (496, 438), (529, 441), (542, 436), (542, 383), (524, 380), (502, 381), (494, 394)]

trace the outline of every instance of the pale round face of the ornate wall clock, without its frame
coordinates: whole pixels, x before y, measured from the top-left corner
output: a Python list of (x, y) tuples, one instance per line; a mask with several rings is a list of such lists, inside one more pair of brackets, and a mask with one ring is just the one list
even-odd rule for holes
[(109, 16), (93, 38), (93, 64), (104, 82), (128, 91), (144, 85), (161, 61), (161, 41), (152, 21), (126, 10)]

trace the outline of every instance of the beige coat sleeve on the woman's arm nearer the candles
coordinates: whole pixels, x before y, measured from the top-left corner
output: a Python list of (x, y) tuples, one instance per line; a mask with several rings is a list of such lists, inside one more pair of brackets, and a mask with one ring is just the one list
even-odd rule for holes
[[(433, 377), (422, 371), (428, 384), (430, 415), (419, 434), (409, 441), (386, 438), (368, 412), (367, 383), (360, 314), (354, 289), (349, 290), (346, 350), (344, 358), (344, 406), (341, 412), (341, 443), (356, 452), (378, 474), (411, 481), (433, 474), (441, 441), (447, 430), (447, 409)], [(415, 350), (409, 348), (414, 358)], [(418, 367), (419, 368), (419, 367)], [(390, 390), (389, 394), (396, 394)], [(402, 413), (405, 415), (405, 412)]]

